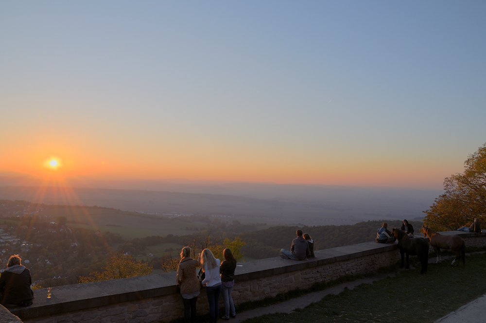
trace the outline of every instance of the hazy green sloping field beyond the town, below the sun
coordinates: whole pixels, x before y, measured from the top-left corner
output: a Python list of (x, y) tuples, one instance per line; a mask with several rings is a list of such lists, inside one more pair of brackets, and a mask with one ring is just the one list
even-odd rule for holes
[(150, 235), (186, 235), (196, 231), (186, 228), (204, 229), (200, 222), (185, 222), (178, 219), (136, 212), (125, 212), (105, 208), (60, 207), (40, 212), (39, 215), (65, 216), (67, 225), (101, 232), (119, 233), (127, 238), (142, 238)]

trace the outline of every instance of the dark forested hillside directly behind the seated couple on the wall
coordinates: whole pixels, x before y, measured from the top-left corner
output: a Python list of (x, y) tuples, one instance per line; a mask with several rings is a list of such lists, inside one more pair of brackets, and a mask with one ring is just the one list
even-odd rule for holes
[[(402, 221), (386, 221), (388, 230), (400, 228)], [(323, 225), (313, 227), (272, 227), (264, 230), (241, 233), (240, 236), (246, 245), (242, 251), (245, 256), (255, 259), (276, 257), (280, 249), (290, 249), (292, 240), (296, 237), (295, 231), (301, 229), (309, 233), (314, 240), (314, 250), (352, 245), (366, 241), (373, 241), (376, 231), (381, 228), (383, 221), (359, 222), (353, 225)], [(415, 234), (422, 226), (421, 221), (410, 221), (414, 226)]]

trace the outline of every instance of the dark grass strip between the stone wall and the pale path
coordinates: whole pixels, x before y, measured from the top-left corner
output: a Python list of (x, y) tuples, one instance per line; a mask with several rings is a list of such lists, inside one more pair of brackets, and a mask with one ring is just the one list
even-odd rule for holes
[(450, 263), (430, 264), (426, 275), (420, 275), (417, 266), (392, 278), (328, 295), (291, 314), (263, 315), (243, 322), (434, 322), (486, 293), (485, 254), (467, 257), (465, 268), (451, 268)]

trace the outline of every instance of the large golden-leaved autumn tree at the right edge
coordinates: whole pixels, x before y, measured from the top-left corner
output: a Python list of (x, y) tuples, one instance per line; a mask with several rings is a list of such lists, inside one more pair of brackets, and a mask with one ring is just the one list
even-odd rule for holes
[(437, 231), (454, 230), (475, 217), (486, 221), (486, 144), (469, 155), (464, 172), (444, 179), (445, 193), (424, 211), (424, 224)]

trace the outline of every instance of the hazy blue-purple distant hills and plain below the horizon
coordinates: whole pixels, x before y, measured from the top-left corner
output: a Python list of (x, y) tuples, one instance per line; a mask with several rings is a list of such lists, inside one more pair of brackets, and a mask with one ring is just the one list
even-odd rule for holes
[[(275, 223), (317, 225), (352, 224), (382, 218), (412, 219), (422, 216), (422, 211), (428, 209), (434, 198), (441, 194), (440, 190), (405, 188), (184, 180), (173, 183), (142, 180), (103, 182), (106, 186), (118, 184), (123, 189), (45, 187), (33, 185), (35, 183), (21, 177), (0, 177), (0, 199), (97, 205), (144, 213), (262, 217), (267, 222), (275, 219)], [(97, 185), (103, 183), (98, 182)], [(152, 190), (127, 189), (130, 186), (150, 187)], [(179, 192), (170, 191), (171, 188)]]

